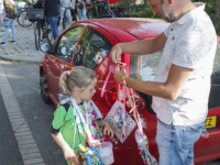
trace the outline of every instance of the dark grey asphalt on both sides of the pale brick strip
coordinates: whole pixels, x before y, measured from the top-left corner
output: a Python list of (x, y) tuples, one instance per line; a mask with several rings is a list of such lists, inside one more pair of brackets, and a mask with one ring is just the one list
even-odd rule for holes
[[(55, 106), (45, 105), (41, 99), (38, 85), (38, 65), (29, 65), (21, 63), (3, 63), (1, 65), (28, 121), (28, 124), (32, 131), (32, 134), (40, 148), (45, 164), (65, 165), (66, 162), (63, 158), (62, 150), (54, 142), (50, 133)], [(0, 96), (0, 105), (2, 105), (1, 101), (2, 99)], [(15, 161), (18, 162), (18, 164), (14, 165), (22, 165), (21, 155), (16, 148), (18, 144), (15, 143), (13, 133), (12, 131), (7, 132), (7, 130), (11, 129), (11, 124), (9, 123), (3, 107), (1, 107), (0, 121), (0, 150), (4, 151), (4, 148), (7, 148), (8, 146), (11, 146), (13, 148), (13, 152), (0, 152), (0, 165), (12, 165), (10, 162), (2, 162), (3, 160), (10, 161), (11, 157), (18, 160)], [(6, 143), (2, 144), (2, 141), (6, 141)], [(220, 160), (204, 163), (200, 165), (220, 165)]]

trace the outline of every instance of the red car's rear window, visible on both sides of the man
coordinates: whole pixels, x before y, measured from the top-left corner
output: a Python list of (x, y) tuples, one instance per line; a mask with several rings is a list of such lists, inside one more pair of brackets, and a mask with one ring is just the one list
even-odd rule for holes
[[(148, 55), (131, 55), (130, 76), (140, 80), (153, 81), (157, 66), (162, 56), (162, 51)], [(143, 95), (142, 97), (146, 97)], [(213, 109), (220, 107), (220, 44), (217, 47), (213, 61), (213, 70), (211, 75), (211, 89), (209, 94), (208, 108)], [(146, 100), (151, 102), (151, 100)], [(151, 109), (151, 107), (148, 108)]]

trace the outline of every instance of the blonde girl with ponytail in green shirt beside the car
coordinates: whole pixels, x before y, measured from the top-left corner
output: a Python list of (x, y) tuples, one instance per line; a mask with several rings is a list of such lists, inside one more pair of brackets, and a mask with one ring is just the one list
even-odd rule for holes
[[(85, 150), (100, 145), (97, 138), (98, 128), (103, 128), (103, 134), (113, 138), (111, 125), (102, 120), (99, 109), (91, 97), (96, 92), (97, 76), (94, 70), (77, 66), (72, 72), (64, 72), (59, 85), (69, 98), (59, 102), (54, 112), (52, 136), (62, 147), (68, 165), (81, 164)], [(84, 160), (85, 161), (85, 160)]]

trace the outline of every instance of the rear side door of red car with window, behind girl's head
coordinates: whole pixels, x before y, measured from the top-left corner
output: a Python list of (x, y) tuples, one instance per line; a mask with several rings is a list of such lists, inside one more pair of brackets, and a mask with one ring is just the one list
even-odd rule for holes
[[(107, 105), (100, 103), (101, 99), (103, 99), (105, 101), (105, 98), (100, 98), (99, 96), (102, 87), (100, 85), (103, 85), (100, 84), (100, 81), (103, 82), (102, 79), (106, 73), (103, 72), (102, 68), (100, 68), (100, 66), (103, 67), (102, 63), (103, 62), (106, 63), (106, 57), (112, 48), (112, 44), (110, 42), (112, 40), (114, 42), (117, 41), (117, 38), (113, 37), (111, 34), (109, 34), (108, 32), (98, 28), (87, 26), (77, 46), (77, 51), (73, 62), (75, 66), (82, 65), (87, 68), (95, 70), (95, 73), (97, 74), (98, 76), (97, 92), (92, 97), (92, 100), (97, 103), (99, 109), (105, 109), (105, 110), (108, 110), (106, 108)], [(105, 67), (107, 69), (108, 64)], [(96, 100), (97, 97), (99, 97), (98, 101)], [(101, 111), (101, 112), (107, 113), (108, 111), (106, 112)]]

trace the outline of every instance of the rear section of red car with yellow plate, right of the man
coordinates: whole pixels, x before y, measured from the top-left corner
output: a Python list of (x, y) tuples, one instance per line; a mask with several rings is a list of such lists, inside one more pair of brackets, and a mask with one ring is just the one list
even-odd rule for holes
[(217, 47), (211, 75), (211, 89), (209, 94), (208, 117), (204, 132), (195, 144), (195, 163), (201, 163), (202, 158), (215, 160), (220, 157), (220, 46)]

